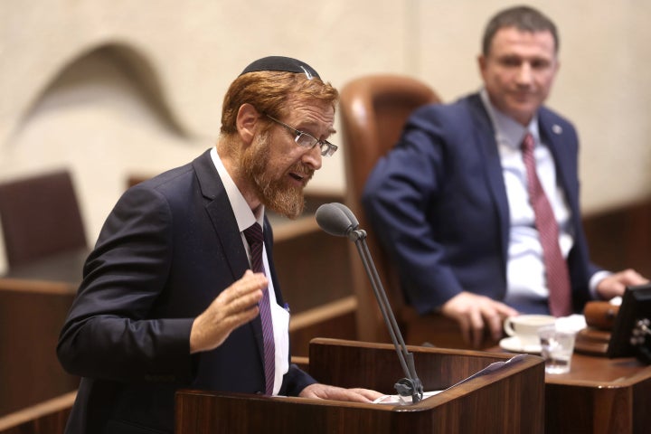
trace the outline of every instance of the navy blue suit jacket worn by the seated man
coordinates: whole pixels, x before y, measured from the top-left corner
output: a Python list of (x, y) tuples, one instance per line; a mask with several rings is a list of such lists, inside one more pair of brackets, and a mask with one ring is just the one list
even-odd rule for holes
[[(590, 264), (580, 222), (578, 138), (551, 110), (540, 109), (538, 116), (571, 209), (568, 264), (580, 309), (598, 269)], [(462, 290), (505, 297), (509, 207), (494, 128), (478, 94), (416, 110), (395, 149), (369, 176), (363, 206), (399, 269), (407, 301), (420, 313)], [(548, 312), (546, 300), (515, 307)]]

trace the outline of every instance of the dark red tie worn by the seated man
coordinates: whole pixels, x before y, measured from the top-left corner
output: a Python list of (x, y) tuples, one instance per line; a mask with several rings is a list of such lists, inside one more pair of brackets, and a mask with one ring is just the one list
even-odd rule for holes
[(533, 146), (533, 136), (529, 133), (523, 141), (523, 160), (527, 171), (529, 200), (533, 207), (535, 226), (542, 244), (547, 287), (550, 291), (549, 307), (553, 316), (568, 316), (572, 313), (570, 274), (559, 246), (558, 224), (552, 206), (542, 190), (538, 175), (536, 175)]

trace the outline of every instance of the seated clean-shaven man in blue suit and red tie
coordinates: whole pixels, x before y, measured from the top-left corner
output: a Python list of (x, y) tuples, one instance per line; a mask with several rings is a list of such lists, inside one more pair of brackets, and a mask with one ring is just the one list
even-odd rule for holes
[(485, 333), (498, 339), (505, 316), (566, 316), (646, 281), (590, 263), (577, 134), (542, 105), (558, 45), (533, 8), (496, 14), (478, 58), (483, 89), (416, 110), (365, 186), (407, 302), (455, 319), (475, 346)]

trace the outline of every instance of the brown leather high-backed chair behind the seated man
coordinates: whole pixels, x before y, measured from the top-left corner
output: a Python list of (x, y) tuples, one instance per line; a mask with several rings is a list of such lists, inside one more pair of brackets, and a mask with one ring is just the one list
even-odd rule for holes
[[(419, 80), (404, 76), (371, 75), (344, 86), (340, 113), (346, 176), (345, 203), (354, 212), (360, 227), (367, 231), (369, 249), (407, 344), (467, 348), (456, 322), (436, 314), (419, 316), (413, 308), (405, 305), (397, 272), (376, 240), (361, 204), (366, 178), (378, 158), (396, 144), (406, 118), (414, 109), (438, 102), (440, 99), (434, 90)], [(351, 249), (353, 284), (358, 301), (358, 338), (390, 342), (373, 288), (354, 243), (351, 243)]]

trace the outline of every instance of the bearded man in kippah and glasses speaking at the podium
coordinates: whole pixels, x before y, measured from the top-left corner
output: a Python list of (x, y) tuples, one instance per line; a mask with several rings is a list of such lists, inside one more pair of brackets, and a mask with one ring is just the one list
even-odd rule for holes
[(337, 91), (286, 57), (231, 83), (217, 145), (137, 184), (84, 267), (57, 354), (82, 377), (67, 433), (172, 433), (181, 388), (369, 402), (289, 363), (267, 208), (295, 218), (336, 146)]

